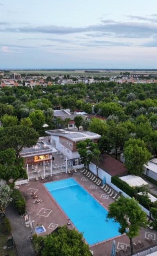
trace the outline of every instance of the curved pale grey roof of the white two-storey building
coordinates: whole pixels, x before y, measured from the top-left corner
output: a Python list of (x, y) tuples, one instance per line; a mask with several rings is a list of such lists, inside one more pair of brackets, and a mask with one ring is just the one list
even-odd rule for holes
[(77, 131), (72, 129), (58, 129), (46, 131), (46, 134), (65, 137), (71, 141), (84, 141), (86, 139), (99, 139), (101, 135), (89, 131)]

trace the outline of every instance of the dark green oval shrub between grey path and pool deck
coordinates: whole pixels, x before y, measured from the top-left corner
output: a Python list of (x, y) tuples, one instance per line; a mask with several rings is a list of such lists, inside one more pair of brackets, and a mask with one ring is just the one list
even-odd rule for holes
[(26, 201), (22, 193), (18, 189), (14, 189), (12, 193), (13, 206), (20, 215), (26, 213)]

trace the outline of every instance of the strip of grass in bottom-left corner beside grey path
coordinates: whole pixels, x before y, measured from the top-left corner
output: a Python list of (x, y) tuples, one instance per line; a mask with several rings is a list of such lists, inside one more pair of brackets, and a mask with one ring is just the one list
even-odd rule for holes
[(7, 245), (7, 238), (8, 238), (8, 234), (3, 232), (4, 230), (4, 224), (0, 223), (0, 256), (5, 256), (5, 255), (9, 255), (9, 256), (18, 256), (18, 253), (16, 251), (16, 248), (7, 250), (7, 249), (3, 249), (4, 246)]

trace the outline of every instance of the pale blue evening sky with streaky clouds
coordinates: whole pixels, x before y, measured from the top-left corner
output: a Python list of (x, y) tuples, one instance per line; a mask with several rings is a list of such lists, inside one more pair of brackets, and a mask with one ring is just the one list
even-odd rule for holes
[(157, 69), (157, 0), (0, 0), (0, 69)]

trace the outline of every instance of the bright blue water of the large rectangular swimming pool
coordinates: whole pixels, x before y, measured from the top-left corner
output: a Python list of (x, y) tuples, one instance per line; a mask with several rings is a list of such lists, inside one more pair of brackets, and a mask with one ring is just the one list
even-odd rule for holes
[(89, 245), (119, 236), (119, 224), (107, 219), (106, 211), (73, 178), (46, 183), (44, 186), (55, 198)]

